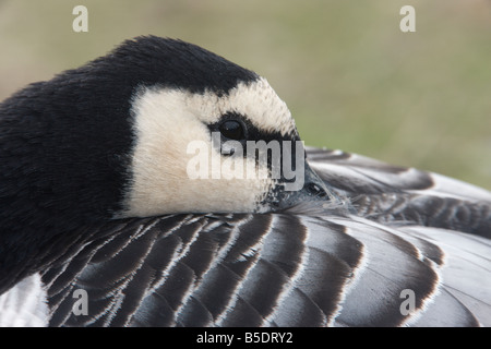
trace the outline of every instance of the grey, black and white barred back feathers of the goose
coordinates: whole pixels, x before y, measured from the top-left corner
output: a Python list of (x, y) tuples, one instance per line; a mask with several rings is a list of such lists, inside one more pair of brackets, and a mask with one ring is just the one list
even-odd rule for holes
[[(491, 326), (489, 192), (336, 151), (308, 156), (355, 213), (115, 221), (44, 272), (50, 325)], [(87, 315), (73, 312), (76, 289)]]

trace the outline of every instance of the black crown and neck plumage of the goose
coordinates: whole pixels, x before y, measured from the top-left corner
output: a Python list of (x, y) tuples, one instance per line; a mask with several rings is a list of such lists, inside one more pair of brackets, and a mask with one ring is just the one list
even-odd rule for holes
[[(61, 249), (53, 246), (60, 234), (74, 229), (80, 234), (81, 226), (100, 224), (122, 208), (134, 146), (131, 100), (139, 88), (227, 94), (239, 81), (255, 79), (197, 46), (147, 36), (5, 99), (0, 105), (0, 292), (12, 285), (8, 279), (19, 279), (13, 275), (48, 263), (37, 252)], [(19, 263), (26, 258), (27, 264)]]

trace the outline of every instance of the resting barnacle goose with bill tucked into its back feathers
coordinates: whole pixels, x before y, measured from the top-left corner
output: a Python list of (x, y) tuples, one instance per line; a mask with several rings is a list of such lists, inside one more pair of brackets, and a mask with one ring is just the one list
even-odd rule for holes
[(4, 100), (0, 325), (491, 325), (490, 192), (319, 148), (301, 190), (247, 153), (265, 178), (192, 179), (196, 140), (299, 135), (266, 80), (154, 36)]

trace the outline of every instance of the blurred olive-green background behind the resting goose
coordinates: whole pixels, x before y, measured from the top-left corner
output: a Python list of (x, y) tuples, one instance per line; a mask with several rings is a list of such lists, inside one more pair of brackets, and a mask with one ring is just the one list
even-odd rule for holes
[[(77, 4), (88, 33), (72, 31)], [(0, 98), (145, 34), (265, 76), (308, 145), (491, 189), (489, 0), (0, 0)]]

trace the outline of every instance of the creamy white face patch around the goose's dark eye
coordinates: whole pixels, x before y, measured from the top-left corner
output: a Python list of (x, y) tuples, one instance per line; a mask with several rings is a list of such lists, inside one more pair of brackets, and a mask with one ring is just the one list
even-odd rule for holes
[[(132, 104), (136, 136), (133, 176), (125, 208), (118, 217), (259, 210), (273, 180), (238, 178), (238, 163), (231, 164), (212, 145), (206, 124), (218, 121), (228, 111), (247, 116), (261, 130), (284, 134), (295, 131), (286, 105), (263, 80), (240, 84), (223, 97), (171, 88), (140, 91)], [(206, 153), (199, 155), (196, 149), (190, 149), (193, 142), (204, 145)], [(196, 156), (206, 156), (209, 165), (220, 166), (204, 169), (207, 176), (190, 176), (190, 163), (193, 166)], [(254, 159), (246, 157), (241, 161), (244, 170), (255, 167)]]

